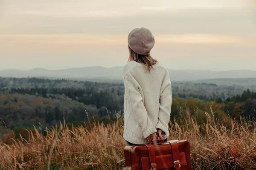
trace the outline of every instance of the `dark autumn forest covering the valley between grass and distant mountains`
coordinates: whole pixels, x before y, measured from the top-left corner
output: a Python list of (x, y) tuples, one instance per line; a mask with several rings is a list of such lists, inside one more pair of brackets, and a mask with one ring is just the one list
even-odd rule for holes
[[(0, 78), (0, 139), (8, 140), (8, 129), (18, 134), (22, 128), (34, 125), (44, 129), (63, 119), (74, 125), (90, 119), (105, 123), (115, 120), (123, 114), (123, 86), (66, 79)], [(209, 106), (215, 118), (226, 125), (230, 124), (229, 117), (256, 118), (256, 92), (241, 86), (174, 82), (172, 91), (172, 121), (189, 111), (199, 124), (205, 123), (205, 113), (211, 112)]]

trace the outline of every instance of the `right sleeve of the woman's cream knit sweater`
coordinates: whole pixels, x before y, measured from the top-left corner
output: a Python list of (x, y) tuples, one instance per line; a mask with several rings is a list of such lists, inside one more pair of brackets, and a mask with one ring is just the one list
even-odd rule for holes
[(172, 106), (172, 85), (168, 72), (163, 79), (163, 84), (160, 90), (159, 99), (159, 114), (156, 129), (161, 129), (165, 134), (169, 132), (168, 124), (170, 120)]

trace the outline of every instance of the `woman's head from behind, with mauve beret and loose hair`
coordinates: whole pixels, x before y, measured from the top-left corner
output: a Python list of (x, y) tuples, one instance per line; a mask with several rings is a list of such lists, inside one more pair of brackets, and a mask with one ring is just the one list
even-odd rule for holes
[(150, 55), (154, 47), (154, 36), (147, 28), (135, 28), (128, 34), (129, 61), (137, 61), (147, 66), (148, 71), (157, 63)]

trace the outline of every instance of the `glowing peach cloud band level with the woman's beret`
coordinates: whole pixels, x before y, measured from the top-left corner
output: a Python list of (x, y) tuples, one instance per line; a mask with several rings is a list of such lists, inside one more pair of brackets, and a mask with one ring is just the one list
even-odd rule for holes
[[(227, 36), (221, 34), (155, 34), (156, 46), (171, 47), (201, 45), (211, 48), (256, 47), (256, 37)], [(76, 53), (90, 48), (126, 48), (126, 34), (10, 34), (0, 35), (2, 54)], [(13, 50), (15, 49), (15, 50)], [(230, 52), (231, 54), (232, 52)]]

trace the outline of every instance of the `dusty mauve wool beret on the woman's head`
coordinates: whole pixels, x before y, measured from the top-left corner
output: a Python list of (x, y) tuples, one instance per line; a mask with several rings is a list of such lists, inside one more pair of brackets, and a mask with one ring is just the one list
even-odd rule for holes
[(135, 28), (128, 34), (128, 45), (135, 53), (147, 55), (154, 47), (154, 36), (148, 28)]

